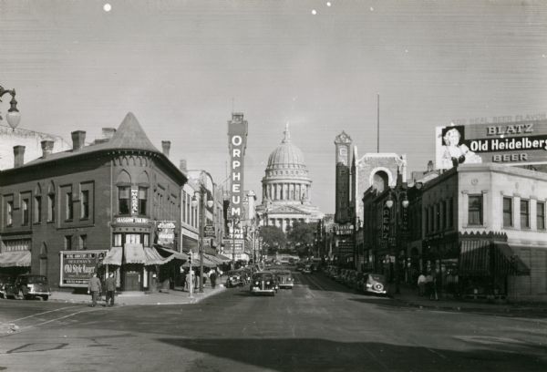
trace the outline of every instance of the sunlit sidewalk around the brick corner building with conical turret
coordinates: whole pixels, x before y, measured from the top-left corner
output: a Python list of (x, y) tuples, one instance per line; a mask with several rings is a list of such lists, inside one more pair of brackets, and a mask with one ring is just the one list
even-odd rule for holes
[[(115, 306), (127, 305), (184, 305), (197, 304), (201, 300), (224, 291), (224, 285), (217, 285), (214, 289), (207, 285), (203, 288), (203, 293), (193, 293), (190, 298), (188, 292), (183, 292), (181, 287), (175, 287), (169, 292), (123, 292), (116, 294), (114, 298)], [(49, 301), (58, 301), (71, 304), (90, 304), (91, 296), (89, 294), (72, 294), (68, 292), (53, 292), (49, 297)], [(101, 301), (98, 301), (98, 306), (105, 304), (105, 294), (102, 295)]]

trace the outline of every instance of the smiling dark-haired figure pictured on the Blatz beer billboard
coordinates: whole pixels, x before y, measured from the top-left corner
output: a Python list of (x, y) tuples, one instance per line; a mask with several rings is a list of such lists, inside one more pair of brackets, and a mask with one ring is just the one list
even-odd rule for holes
[[(445, 131), (446, 130), (446, 131)], [(442, 146), (441, 164), (440, 168), (450, 169), (452, 167), (458, 167), (461, 163), (480, 163), (482, 159), (475, 152), (471, 151), (463, 141), (463, 127), (449, 127), (443, 129), (442, 140), (444, 146)]]

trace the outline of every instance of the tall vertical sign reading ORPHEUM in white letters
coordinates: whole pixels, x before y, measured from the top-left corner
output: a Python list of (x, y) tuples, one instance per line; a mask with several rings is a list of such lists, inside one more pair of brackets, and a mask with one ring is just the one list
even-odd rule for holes
[[(243, 219), (243, 166), (245, 149), (247, 147), (246, 120), (243, 113), (232, 113), (232, 120), (228, 121), (228, 148), (230, 150), (231, 180), (230, 211), (228, 219)], [(238, 234), (232, 229), (231, 234)], [(231, 236), (232, 237), (232, 236)]]

